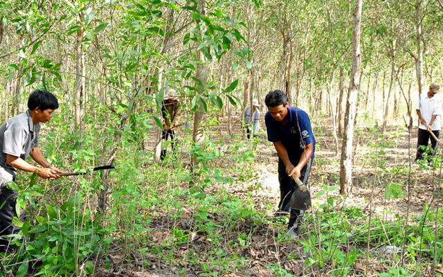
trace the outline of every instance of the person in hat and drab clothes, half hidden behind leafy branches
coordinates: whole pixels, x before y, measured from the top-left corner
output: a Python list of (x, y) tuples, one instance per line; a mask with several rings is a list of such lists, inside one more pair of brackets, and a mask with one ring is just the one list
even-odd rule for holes
[[(174, 127), (176, 127), (180, 120), (180, 103), (178, 100), (177, 91), (175, 89), (170, 89), (168, 93), (163, 98), (163, 105), (161, 107), (161, 115), (163, 116), (163, 132), (161, 134), (161, 139), (163, 141), (168, 141), (171, 139), (171, 148), (174, 152), (175, 141), (174, 141)], [(166, 157), (166, 150), (161, 150), (160, 159), (163, 160)]]

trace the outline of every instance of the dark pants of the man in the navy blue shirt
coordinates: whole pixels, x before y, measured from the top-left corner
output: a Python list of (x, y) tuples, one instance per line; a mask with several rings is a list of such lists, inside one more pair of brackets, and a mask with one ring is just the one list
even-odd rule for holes
[[(301, 170), (300, 180), (303, 184), (307, 186), (309, 182), (309, 174), (311, 173), (312, 162), (314, 157), (307, 162)], [(297, 165), (298, 161), (291, 161), (293, 165)], [(278, 158), (278, 181), (280, 182), (280, 203), (278, 208), (280, 211), (289, 211), (289, 202), (291, 201), (292, 193), (298, 188), (298, 185), (291, 177), (287, 175), (286, 166), (280, 157)], [(289, 216), (288, 228), (296, 225), (295, 229), (298, 229), (298, 224), (302, 220), (302, 215), (300, 210), (291, 209), (291, 215)]]

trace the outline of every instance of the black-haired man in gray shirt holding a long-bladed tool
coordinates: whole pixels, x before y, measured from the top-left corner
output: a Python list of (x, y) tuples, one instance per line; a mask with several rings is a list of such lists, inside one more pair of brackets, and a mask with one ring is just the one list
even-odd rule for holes
[[(15, 181), (17, 169), (34, 172), (42, 179), (57, 179), (61, 172), (46, 161), (38, 147), (39, 123), (51, 120), (53, 111), (58, 108), (57, 98), (37, 89), (29, 96), (28, 108), (0, 126), (0, 252), (10, 248), (10, 241), (1, 236), (20, 231), (12, 224), (12, 218), (17, 217), (17, 191), (8, 188), (8, 184)], [(28, 163), (29, 156), (42, 167)], [(19, 217), (23, 218), (23, 213)]]

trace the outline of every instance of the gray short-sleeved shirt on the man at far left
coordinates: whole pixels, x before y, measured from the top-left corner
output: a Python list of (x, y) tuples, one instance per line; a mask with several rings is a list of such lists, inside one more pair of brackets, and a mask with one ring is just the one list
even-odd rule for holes
[(38, 146), (39, 123), (33, 124), (30, 111), (10, 118), (0, 126), (0, 184), (12, 181), (17, 170), (6, 164), (6, 156), (27, 159), (30, 151)]

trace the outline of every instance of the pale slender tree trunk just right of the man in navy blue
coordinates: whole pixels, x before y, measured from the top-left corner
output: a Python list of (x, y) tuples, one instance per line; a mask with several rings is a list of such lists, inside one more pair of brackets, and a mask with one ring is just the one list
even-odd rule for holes
[(355, 1), (354, 9), (354, 30), (352, 31), (352, 68), (350, 84), (347, 94), (345, 133), (343, 135), (343, 145), (341, 148), (340, 165), (340, 193), (345, 194), (346, 188), (352, 186), (352, 141), (354, 139), (354, 118), (356, 115), (356, 99), (359, 91), (360, 73), (360, 36), (361, 36), (361, 6), (363, 0)]

